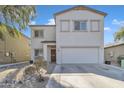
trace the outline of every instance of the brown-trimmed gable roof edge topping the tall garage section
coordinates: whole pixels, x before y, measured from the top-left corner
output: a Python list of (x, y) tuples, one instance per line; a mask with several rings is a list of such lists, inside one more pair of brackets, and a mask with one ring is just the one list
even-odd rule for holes
[(58, 13), (55, 13), (54, 15), (57, 16), (57, 15), (63, 14), (65, 12), (68, 12), (68, 11), (71, 11), (71, 10), (89, 10), (91, 12), (94, 12), (94, 13), (97, 13), (97, 14), (100, 14), (100, 15), (103, 15), (103, 16), (106, 16), (107, 15), (107, 13), (104, 13), (104, 12), (101, 12), (101, 11), (98, 11), (98, 10), (95, 10), (95, 9), (92, 9), (92, 8), (87, 7), (87, 6), (84, 6), (84, 5), (75, 6), (75, 7), (69, 8), (67, 10), (64, 10), (64, 11), (61, 11), (61, 12), (58, 12)]

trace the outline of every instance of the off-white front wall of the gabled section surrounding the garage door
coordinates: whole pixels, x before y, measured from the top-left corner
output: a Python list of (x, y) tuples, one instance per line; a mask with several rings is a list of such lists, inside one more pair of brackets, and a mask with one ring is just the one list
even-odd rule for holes
[[(61, 21), (69, 21), (69, 31), (61, 31)], [(75, 20), (86, 20), (87, 31), (74, 31)], [(91, 20), (99, 20), (99, 32), (91, 31)], [(88, 10), (71, 10), (56, 16), (56, 50), (57, 62), (61, 63), (61, 47), (75, 46), (75, 47), (98, 47), (99, 49), (99, 63), (104, 62), (104, 16), (96, 14)]]

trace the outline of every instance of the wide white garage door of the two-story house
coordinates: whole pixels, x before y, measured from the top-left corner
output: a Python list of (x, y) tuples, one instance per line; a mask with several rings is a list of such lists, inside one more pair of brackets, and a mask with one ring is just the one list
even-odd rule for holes
[(62, 64), (98, 63), (98, 48), (62, 48)]

